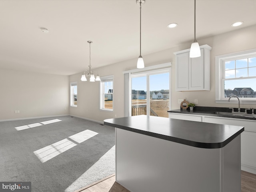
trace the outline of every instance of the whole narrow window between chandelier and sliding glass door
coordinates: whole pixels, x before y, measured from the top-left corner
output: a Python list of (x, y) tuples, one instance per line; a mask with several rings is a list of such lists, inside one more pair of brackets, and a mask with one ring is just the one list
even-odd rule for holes
[(100, 77), (100, 109), (113, 111), (113, 80), (114, 76)]

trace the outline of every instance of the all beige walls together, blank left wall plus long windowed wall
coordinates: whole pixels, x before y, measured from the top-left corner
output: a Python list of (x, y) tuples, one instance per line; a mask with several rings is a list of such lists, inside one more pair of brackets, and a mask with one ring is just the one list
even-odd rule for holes
[[(173, 52), (190, 48), (190, 43), (181, 44), (149, 55), (143, 55), (145, 66), (172, 62), (172, 109), (178, 109), (178, 99), (194, 101), (198, 106), (236, 107), (232, 104), (215, 103), (215, 56), (256, 48), (256, 26), (234, 30), (225, 34), (198, 39), (200, 45), (208, 44), (211, 51), (211, 90), (175, 91), (175, 55)], [(160, 37), (161, 38), (161, 37)], [(125, 53), (124, 53), (125, 54)], [(70, 114), (102, 122), (107, 118), (124, 116), (124, 74), (123, 71), (136, 68), (137, 58), (112, 64), (97, 70), (100, 76), (114, 75), (114, 111), (99, 110), (99, 82), (81, 82), (81, 73), (71, 76), (48, 75), (0, 70), (0, 120), (57, 116)], [(78, 106), (70, 107), (70, 82), (78, 82)], [(256, 108), (242, 105), (241, 108)], [(20, 110), (20, 113), (14, 113)]]

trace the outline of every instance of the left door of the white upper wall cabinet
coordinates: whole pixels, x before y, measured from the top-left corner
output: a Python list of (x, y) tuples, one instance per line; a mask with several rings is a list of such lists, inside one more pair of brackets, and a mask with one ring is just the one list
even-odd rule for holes
[(188, 90), (188, 52), (176, 55), (176, 91)]

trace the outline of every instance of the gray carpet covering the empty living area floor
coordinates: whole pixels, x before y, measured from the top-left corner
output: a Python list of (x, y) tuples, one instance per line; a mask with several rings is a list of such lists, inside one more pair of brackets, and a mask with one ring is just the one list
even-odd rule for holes
[[(40, 123), (53, 119), (61, 121)], [(25, 125), (30, 126), (19, 131), (15, 128)], [(85, 130), (98, 134), (81, 142), (70, 139)], [(62, 140), (74, 146), (59, 150), (53, 145)], [(0, 122), (0, 181), (31, 181), (32, 192), (73, 192), (115, 172), (114, 145), (113, 127), (80, 118), (62, 116)], [(52, 150), (58, 153), (63, 151), (41, 162), (34, 152), (46, 146), (53, 146)]]

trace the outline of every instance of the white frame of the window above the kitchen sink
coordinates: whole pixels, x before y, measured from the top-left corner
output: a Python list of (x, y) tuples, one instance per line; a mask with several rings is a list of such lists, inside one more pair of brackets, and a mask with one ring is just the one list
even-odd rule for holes
[[(228, 60), (239, 60), (242, 58), (256, 57), (256, 49), (245, 50), (240, 52), (234, 52), (230, 54), (223, 54), (215, 56), (215, 102), (216, 103), (228, 103), (228, 98), (224, 97), (224, 71), (225, 71), (225, 61)], [(254, 77), (246, 77), (254, 78)], [(242, 79), (242, 78), (233, 78)], [(232, 80), (230, 78), (230, 80)], [(255, 91), (255, 90), (254, 90)], [(241, 104), (256, 104), (256, 98), (239, 98)]]

